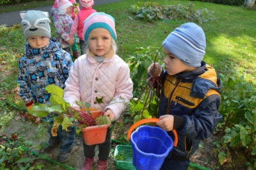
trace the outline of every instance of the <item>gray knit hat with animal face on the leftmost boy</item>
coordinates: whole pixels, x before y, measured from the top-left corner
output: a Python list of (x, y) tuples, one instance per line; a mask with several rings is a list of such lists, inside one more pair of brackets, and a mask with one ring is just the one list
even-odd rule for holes
[(51, 38), (49, 13), (30, 10), (21, 11), (21, 25), (25, 39), (31, 36), (45, 36)]

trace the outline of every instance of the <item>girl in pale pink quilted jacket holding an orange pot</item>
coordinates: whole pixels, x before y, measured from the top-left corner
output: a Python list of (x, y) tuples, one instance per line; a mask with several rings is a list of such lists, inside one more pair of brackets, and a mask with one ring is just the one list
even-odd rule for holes
[[(115, 121), (133, 96), (129, 66), (116, 54), (115, 19), (105, 13), (93, 13), (85, 20), (82, 35), (87, 43), (86, 54), (78, 57), (70, 70), (64, 99), (75, 109), (80, 109), (75, 101), (89, 102), (91, 107), (103, 110), (104, 115)], [(110, 128), (105, 142), (98, 146), (97, 169), (104, 170), (110, 153)], [(82, 170), (92, 169), (95, 147), (83, 142), (85, 162)]]

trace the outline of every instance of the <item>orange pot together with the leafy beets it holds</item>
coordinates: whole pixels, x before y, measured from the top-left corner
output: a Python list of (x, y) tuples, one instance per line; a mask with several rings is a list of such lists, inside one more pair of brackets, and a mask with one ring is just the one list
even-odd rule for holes
[[(104, 131), (106, 131), (107, 127), (110, 126), (110, 119), (107, 116), (104, 116), (104, 112), (90, 108), (91, 104), (87, 102), (83, 103), (81, 101), (76, 101), (76, 103), (83, 109), (74, 109), (63, 99), (64, 90), (59, 86), (51, 84), (46, 86), (45, 90), (48, 93), (51, 93), (50, 102), (47, 104), (34, 104), (28, 110), (30, 115), (35, 117), (46, 117), (50, 115), (51, 119), (54, 121), (53, 128), (51, 130), (53, 136), (57, 136), (57, 128), (59, 128), (60, 125), (62, 125), (62, 130), (67, 130), (68, 127), (75, 125), (78, 127), (76, 133), (78, 134), (82, 131), (86, 144), (94, 145), (97, 144), (97, 142), (102, 143), (101, 141), (103, 139), (98, 141), (99, 137), (97, 136), (105, 139), (106, 133)], [(97, 135), (91, 134), (93, 133), (92, 129), (97, 129)], [(88, 134), (88, 131), (91, 133)], [(94, 139), (92, 136), (95, 136)]]

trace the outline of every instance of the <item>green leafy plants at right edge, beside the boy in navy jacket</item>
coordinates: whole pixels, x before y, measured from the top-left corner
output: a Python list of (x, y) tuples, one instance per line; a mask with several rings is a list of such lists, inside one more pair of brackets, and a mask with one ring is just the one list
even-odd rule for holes
[(251, 157), (252, 168), (256, 156), (256, 96), (253, 83), (245, 82), (242, 77), (233, 75), (223, 81), (222, 102), (220, 113), (225, 119), (222, 127), (224, 133), (218, 143), (220, 165), (225, 160), (231, 161), (229, 148), (242, 149), (245, 155)]

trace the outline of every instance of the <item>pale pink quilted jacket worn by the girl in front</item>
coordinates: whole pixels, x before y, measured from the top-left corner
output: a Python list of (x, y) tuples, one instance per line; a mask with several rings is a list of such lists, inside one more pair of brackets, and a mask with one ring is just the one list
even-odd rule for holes
[[(130, 69), (118, 55), (105, 58), (100, 64), (91, 55), (78, 57), (65, 85), (64, 99), (72, 107), (80, 109), (75, 101), (89, 102), (91, 107), (110, 109), (116, 119), (132, 99)], [(102, 98), (103, 103), (99, 104), (96, 98)]]

